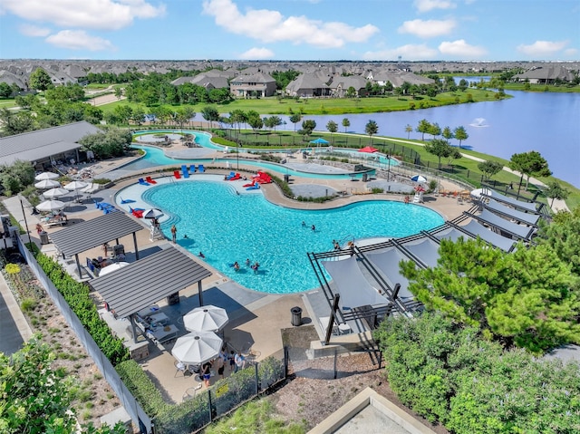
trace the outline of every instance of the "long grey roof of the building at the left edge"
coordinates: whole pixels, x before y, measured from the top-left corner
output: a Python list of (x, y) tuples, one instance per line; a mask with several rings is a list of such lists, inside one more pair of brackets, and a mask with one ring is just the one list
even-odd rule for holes
[(16, 159), (35, 161), (80, 148), (77, 141), (99, 131), (91, 123), (80, 121), (3, 137), (0, 138), (0, 164), (12, 164)]

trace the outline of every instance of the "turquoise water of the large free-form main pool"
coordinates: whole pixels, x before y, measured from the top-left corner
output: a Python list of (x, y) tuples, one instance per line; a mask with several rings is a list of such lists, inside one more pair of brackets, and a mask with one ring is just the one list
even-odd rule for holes
[[(169, 215), (161, 225), (165, 236), (171, 237), (169, 229), (175, 224), (180, 246), (195, 255), (203, 252), (209, 265), (239, 284), (271, 294), (317, 287), (306, 253), (332, 250), (333, 239), (409, 236), (444, 222), (428, 208), (390, 201), (318, 211), (288, 209), (261, 194), (237, 195), (232, 186), (214, 181), (149, 188), (143, 199)], [(259, 262), (257, 275), (246, 265), (247, 258)], [(238, 272), (229, 266), (235, 261), (241, 266)]]

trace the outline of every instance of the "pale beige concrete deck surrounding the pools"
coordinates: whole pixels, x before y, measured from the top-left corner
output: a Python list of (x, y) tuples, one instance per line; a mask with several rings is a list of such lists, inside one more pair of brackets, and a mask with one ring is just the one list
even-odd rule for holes
[[(177, 146), (172, 148), (172, 151), (179, 151)], [(193, 150), (183, 147), (183, 151)], [(223, 152), (212, 151), (213, 154), (223, 156)], [(108, 178), (108, 172), (112, 169), (118, 168), (123, 164), (126, 164), (131, 159), (115, 159), (111, 161), (100, 162), (95, 168), (96, 176), (95, 178)], [(213, 165), (212, 165), (213, 166)], [(314, 165), (310, 164), (314, 169)], [(241, 169), (249, 169), (243, 164), (240, 164)], [(322, 169), (322, 168), (321, 168)], [(325, 167), (324, 169), (328, 169)], [(223, 168), (211, 169), (208, 176), (212, 178), (221, 178), (225, 174), (228, 174), (232, 169), (224, 166)], [(92, 198), (97, 198), (99, 200), (104, 200), (106, 202), (115, 203), (115, 195), (121, 188), (126, 188), (129, 186), (136, 186), (137, 179), (143, 177), (143, 175), (151, 174), (152, 176), (158, 177), (162, 175), (168, 175), (169, 172), (163, 172), (163, 168), (148, 169), (142, 172), (135, 172), (131, 178), (124, 178), (119, 180), (118, 183), (114, 185), (113, 188), (107, 188), (97, 191), (92, 195)], [(204, 176), (203, 174), (192, 175), (189, 179), (196, 179), (198, 177)], [(298, 178), (292, 177), (293, 184), (295, 185), (312, 185), (315, 184), (320, 186), (320, 188), (333, 188), (337, 191), (346, 191), (346, 188), (352, 188), (356, 184), (357, 188), (366, 188), (365, 183), (362, 181), (351, 181), (346, 180), (333, 180), (333, 179), (322, 179), (322, 178)], [(183, 181), (183, 179), (181, 180)], [(247, 183), (247, 181), (243, 181)], [(240, 186), (242, 182), (240, 181)], [(324, 209), (328, 207), (340, 207), (349, 203), (363, 201), (363, 200), (398, 200), (401, 201), (403, 196), (392, 195), (392, 194), (364, 194), (364, 195), (348, 195), (342, 198), (334, 199), (330, 202), (323, 204), (313, 203), (313, 202), (296, 202), (289, 198), (285, 198), (279, 188), (275, 184), (268, 184), (262, 186), (260, 189), (266, 196), (266, 198), (275, 204), (279, 204), (286, 207), (296, 207), (302, 209)], [(459, 189), (456, 186), (447, 185), (444, 183), (444, 188), (448, 189)], [(133, 187), (134, 188), (134, 187)], [(19, 221), (24, 221), (24, 216), (22, 213), (20, 201), (18, 198), (8, 198), (5, 199), (5, 206), (14, 215), (14, 218)], [(421, 206), (429, 207), (440, 213), (445, 219), (452, 219), (458, 217), (464, 210), (467, 210), (469, 205), (459, 204), (455, 198), (443, 198), (437, 196), (427, 196), (425, 198), (425, 203)], [(69, 218), (69, 225), (73, 225), (75, 222), (89, 220), (102, 215), (102, 211), (96, 209), (92, 202), (92, 199), (84, 199), (81, 203), (69, 203), (69, 207), (65, 209), (65, 213)], [(26, 220), (28, 227), (32, 230), (30, 236), (32, 240), (41, 247), (43, 253), (49, 256), (55, 256), (56, 249), (53, 244), (41, 245), (39, 236), (34, 231), (36, 223), (39, 222), (36, 216), (31, 216), (27, 213)], [(140, 220), (138, 220), (140, 221)], [(170, 243), (169, 240), (160, 239), (155, 241), (150, 241), (150, 231), (149, 227), (143, 224), (143, 230), (140, 230), (137, 236), (137, 244), (140, 249), (140, 256), (147, 256), (160, 249), (160, 246), (165, 243)], [(49, 236), (54, 231), (60, 230), (61, 227), (48, 227), (46, 231)], [(26, 235), (23, 236), (24, 238)], [(23, 238), (23, 239), (24, 239)], [(27, 240), (26, 240), (27, 241)], [(120, 243), (126, 248), (128, 261), (134, 260), (133, 241), (132, 236), (126, 236), (120, 239)], [(178, 248), (180, 248), (178, 246)], [(190, 255), (188, 252), (182, 249), (184, 253), (191, 257), (192, 261), (200, 261), (197, 256)], [(96, 247), (90, 251), (85, 252), (80, 255), (81, 262), (84, 261), (85, 257), (97, 257), (103, 256), (102, 248)], [(204, 292), (204, 302), (205, 304), (215, 304), (223, 307), (227, 310), (229, 315), (229, 323), (227, 323), (224, 329), (224, 335), (226, 341), (233, 348), (241, 349), (247, 351), (249, 346), (255, 352), (256, 360), (262, 360), (270, 355), (275, 355), (281, 357), (283, 352), (282, 338), (280, 331), (285, 328), (293, 327), (292, 325), (292, 314), (290, 309), (292, 307), (298, 306), (302, 308), (303, 311), (303, 324), (314, 323), (317, 329), (320, 328), (318, 325), (318, 317), (328, 315), (328, 304), (324, 299), (322, 291), (309, 291), (300, 294), (264, 294), (258, 293), (251, 289), (237, 285), (233, 280), (230, 280), (226, 276), (222, 275), (218, 270), (207, 266), (213, 275), (202, 281), (202, 290)], [(67, 265), (67, 268), (74, 275), (75, 267), (73, 265)], [(187, 331), (183, 328), (181, 316), (184, 313), (189, 312), (190, 309), (197, 307), (198, 305), (198, 288), (197, 285), (186, 288), (180, 291), (180, 303), (168, 305), (165, 300), (160, 301), (160, 309), (163, 313), (169, 316), (169, 321), (174, 323), (179, 328), (179, 334), (185, 334)], [(102, 307), (99, 306), (100, 308)], [(181, 322), (181, 323), (180, 323)], [(319, 332), (320, 333), (320, 332)], [(358, 335), (352, 333), (351, 335), (341, 335), (333, 338), (333, 342), (349, 342), (353, 340), (360, 339)], [(185, 392), (191, 388), (198, 385), (198, 381), (194, 377), (183, 377), (181, 374), (176, 374), (174, 368), (175, 359), (171, 356), (170, 350), (172, 348), (173, 342), (168, 342), (164, 345), (158, 344), (154, 345), (150, 343), (150, 356), (140, 362), (144, 370), (150, 372), (150, 375), (154, 380), (159, 381), (160, 388), (165, 396), (169, 400), (175, 402), (180, 402), (185, 394)], [(226, 369), (226, 374), (229, 371)], [(211, 382), (215, 381), (212, 378)], [(205, 386), (202, 386), (202, 388)]]

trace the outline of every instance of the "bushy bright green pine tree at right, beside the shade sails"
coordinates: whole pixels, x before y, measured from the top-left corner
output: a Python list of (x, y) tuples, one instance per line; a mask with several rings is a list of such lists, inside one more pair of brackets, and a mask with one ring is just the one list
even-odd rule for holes
[(401, 273), (428, 310), (476, 326), (508, 346), (538, 353), (580, 342), (578, 280), (549, 246), (507, 253), (480, 239), (442, 240), (435, 268), (403, 261)]

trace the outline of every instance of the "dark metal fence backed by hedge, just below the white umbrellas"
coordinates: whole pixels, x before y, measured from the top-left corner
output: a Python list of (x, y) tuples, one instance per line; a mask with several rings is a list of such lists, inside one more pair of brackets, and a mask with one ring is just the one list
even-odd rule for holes
[(204, 429), (214, 420), (226, 415), (258, 394), (275, 387), (286, 378), (286, 358), (251, 363), (214, 387), (198, 392), (190, 388), (183, 402), (171, 406), (153, 420), (155, 434), (189, 434)]

